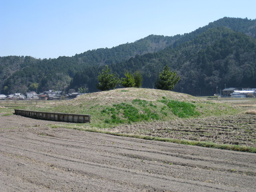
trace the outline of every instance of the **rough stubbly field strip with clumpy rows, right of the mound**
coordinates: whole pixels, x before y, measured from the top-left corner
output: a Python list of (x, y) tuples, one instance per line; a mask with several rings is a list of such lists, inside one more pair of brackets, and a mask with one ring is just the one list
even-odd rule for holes
[(122, 125), (112, 131), (256, 147), (256, 115), (244, 113), (232, 116), (178, 119), (172, 122), (149, 122), (144, 125)]

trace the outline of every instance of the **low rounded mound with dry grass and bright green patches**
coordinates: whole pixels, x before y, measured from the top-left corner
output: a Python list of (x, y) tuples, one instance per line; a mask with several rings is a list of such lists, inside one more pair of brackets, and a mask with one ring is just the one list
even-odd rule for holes
[(89, 93), (73, 100), (29, 107), (28, 110), (91, 115), (91, 126), (168, 121), (177, 118), (234, 114), (230, 105), (165, 90), (124, 88)]

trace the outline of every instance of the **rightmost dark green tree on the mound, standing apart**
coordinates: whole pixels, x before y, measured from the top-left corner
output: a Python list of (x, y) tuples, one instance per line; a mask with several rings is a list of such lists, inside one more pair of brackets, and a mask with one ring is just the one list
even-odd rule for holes
[(157, 82), (155, 83), (157, 89), (173, 90), (175, 84), (180, 80), (175, 71), (170, 71), (170, 67), (166, 65), (164, 70), (159, 73)]

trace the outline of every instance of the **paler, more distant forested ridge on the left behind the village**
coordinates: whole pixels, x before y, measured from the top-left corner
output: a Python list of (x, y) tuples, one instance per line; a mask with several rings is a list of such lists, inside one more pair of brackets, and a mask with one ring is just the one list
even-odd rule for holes
[(172, 45), (180, 35), (165, 37), (149, 35), (134, 43), (122, 44), (111, 49), (100, 48), (55, 59), (35, 59), (29, 56), (0, 57), (0, 92), (26, 92), (32, 83), (39, 83), (39, 90), (63, 90), (78, 71), (91, 66), (125, 61), (132, 56), (157, 52)]

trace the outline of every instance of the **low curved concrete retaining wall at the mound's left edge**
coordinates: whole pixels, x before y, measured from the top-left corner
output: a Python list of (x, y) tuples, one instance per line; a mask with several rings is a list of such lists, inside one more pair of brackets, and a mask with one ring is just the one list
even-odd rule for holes
[(41, 111), (26, 111), (15, 109), (15, 114), (26, 116), (34, 119), (42, 119), (49, 121), (74, 122), (74, 123), (90, 123), (90, 115), (70, 114), (70, 113), (49, 113)]

